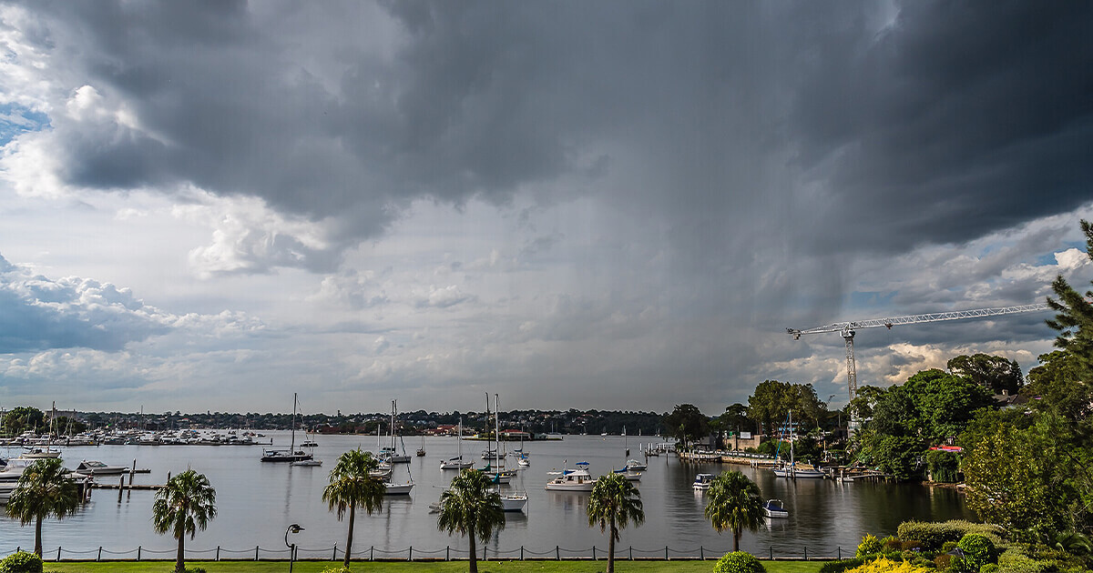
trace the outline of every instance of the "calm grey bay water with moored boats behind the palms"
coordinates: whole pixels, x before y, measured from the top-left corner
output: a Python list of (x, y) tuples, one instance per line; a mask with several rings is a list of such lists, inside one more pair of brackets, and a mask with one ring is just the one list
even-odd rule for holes
[[(266, 432), (277, 445), (287, 446), (287, 432)], [(299, 435), (297, 435), (297, 439)], [(376, 449), (375, 438), (324, 435), (318, 438), (315, 457), (322, 459), (321, 467), (294, 467), (284, 464), (259, 462), (261, 446), (140, 446), (102, 445), (68, 447), (63, 458), (68, 467), (75, 467), (82, 458), (99, 459), (110, 465), (146, 467), (151, 474), (138, 474), (137, 484), (163, 484), (167, 473), (177, 474), (193, 468), (205, 476), (216, 489), (219, 515), (209, 528), (187, 540), (187, 548), (195, 550), (222, 546), (224, 550), (249, 551), (255, 546), (271, 550), (284, 548), (285, 528), (298, 523), (305, 530), (293, 540), (302, 548), (302, 557), (310, 557), (308, 549), (318, 554), (329, 554), (337, 542), (345, 545), (346, 525), (337, 520), (321, 500), (328, 473), (338, 455), (361, 446)], [(638, 443), (655, 442), (650, 438), (631, 437), (626, 444), (638, 453)], [(421, 445), (420, 438), (407, 438), (406, 447), (413, 451)], [(508, 444), (513, 446), (513, 444)], [(383, 511), (367, 515), (357, 513), (354, 535), (354, 554), (357, 550), (375, 546), (377, 549), (404, 551), (414, 547), (414, 553), (426, 550), (466, 549), (466, 540), (448, 537), (437, 530), (436, 514), (428, 504), (440, 496), (440, 488), (450, 481), (455, 471), (442, 471), (440, 459), (456, 455), (455, 438), (426, 438), (425, 457), (414, 457), (410, 464), (396, 465), (392, 481), (402, 482), (408, 473), (416, 482), (409, 497), (388, 497)], [(484, 442), (465, 441), (463, 455), (480, 461)], [(588, 550), (593, 544), (601, 550), (607, 547), (599, 529), (588, 527), (585, 508), (588, 496), (545, 491), (543, 485), (551, 478), (548, 471), (573, 467), (578, 461), (590, 464), (592, 475), (604, 474), (625, 462), (622, 437), (567, 435), (563, 441), (528, 442), (531, 466), (520, 471), (509, 486), (528, 492), (528, 505), (522, 513), (506, 514), (505, 528), (486, 545), (494, 549), (510, 550), (525, 546), (534, 551), (553, 551), (555, 546), (565, 549)], [(9, 452), (15, 455), (16, 451)], [(0, 455), (4, 454), (0, 450)], [(636, 456), (632, 456), (636, 457)], [(974, 518), (966, 509), (963, 497), (951, 489), (927, 488), (894, 484), (837, 484), (831, 480), (787, 481), (775, 478), (769, 469), (721, 464), (681, 464), (674, 456), (649, 458), (649, 469), (640, 481), (642, 501), (646, 522), (622, 532), (620, 547), (633, 546), (663, 552), (666, 545), (672, 551), (683, 551), (703, 546), (706, 551), (731, 549), (731, 535), (718, 535), (703, 518), (703, 496), (691, 489), (698, 471), (717, 474), (739, 469), (755, 480), (764, 498), (778, 498), (790, 512), (788, 520), (774, 520), (757, 533), (745, 532), (742, 549), (766, 553), (798, 554), (802, 547), (810, 554), (834, 554), (836, 547), (844, 551), (857, 546), (861, 536), (894, 534), (901, 522), (907, 520)], [(103, 477), (103, 482), (117, 482), (116, 477)], [(144, 550), (169, 550), (175, 541), (152, 530), (152, 491), (126, 492), (118, 502), (113, 490), (94, 490), (91, 502), (75, 515), (63, 521), (49, 520), (44, 526), (46, 551), (58, 546), (64, 557), (77, 557), (71, 551), (105, 550), (126, 551), (142, 546)], [(16, 546), (33, 547), (33, 526), (20, 527), (19, 522), (0, 517), (0, 552), (7, 553)], [(321, 551), (320, 551), (321, 550)], [(635, 553), (636, 556), (637, 553)], [(228, 553), (224, 553), (228, 557)], [(564, 556), (564, 553), (563, 553)], [(94, 557), (92, 554), (92, 557)], [(379, 554), (377, 553), (377, 557)]]

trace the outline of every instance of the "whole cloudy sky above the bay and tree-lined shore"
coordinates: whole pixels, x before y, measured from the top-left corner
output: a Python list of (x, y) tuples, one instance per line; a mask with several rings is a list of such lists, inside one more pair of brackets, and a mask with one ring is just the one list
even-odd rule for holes
[[(717, 415), (1093, 262), (1093, 3), (0, 4), (0, 407)], [(859, 332), (858, 383), (1053, 348)]]

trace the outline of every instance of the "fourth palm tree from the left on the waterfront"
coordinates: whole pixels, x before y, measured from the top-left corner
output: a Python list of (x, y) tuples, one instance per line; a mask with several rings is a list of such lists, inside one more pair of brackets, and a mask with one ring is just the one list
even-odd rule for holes
[(459, 532), (470, 539), (470, 573), (478, 573), (474, 539), (490, 538), (494, 529), (505, 527), (505, 508), (501, 493), (492, 490), (493, 481), (478, 469), (463, 469), (440, 493), (440, 514), (436, 527), (448, 535)]

